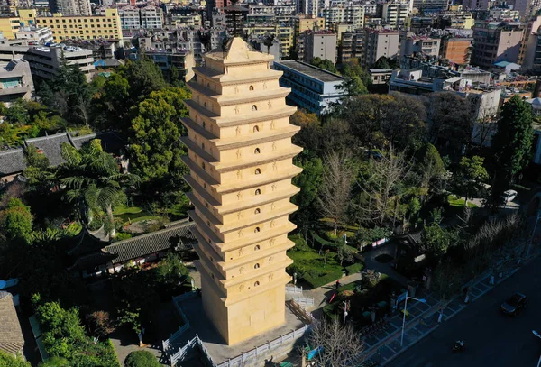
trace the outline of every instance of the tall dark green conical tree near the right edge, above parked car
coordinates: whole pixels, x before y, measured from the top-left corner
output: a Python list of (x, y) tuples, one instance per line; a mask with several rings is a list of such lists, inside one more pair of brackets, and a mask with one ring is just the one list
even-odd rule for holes
[(492, 139), (495, 175), (492, 182), (491, 199), (500, 204), (501, 195), (509, 188), (513, 177), (530, 160), (534, 129), (531, 106), (520, 96), (512, 96), (501, 107), (498, 132)]

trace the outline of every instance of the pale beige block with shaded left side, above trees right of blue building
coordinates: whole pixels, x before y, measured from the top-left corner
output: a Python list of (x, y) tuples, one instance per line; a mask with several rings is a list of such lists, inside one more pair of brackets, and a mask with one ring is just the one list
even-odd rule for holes
[(375, 64), (381, 56), (395, 58), (399, 55), (400, 32), (372, 28), (367, 28), (365, 31), (365, 49), (362, 66), (370, 67)]

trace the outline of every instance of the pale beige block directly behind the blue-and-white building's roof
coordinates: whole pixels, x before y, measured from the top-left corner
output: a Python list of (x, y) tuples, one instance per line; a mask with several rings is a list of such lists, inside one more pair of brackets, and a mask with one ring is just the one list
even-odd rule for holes
[(314, 58), (330, 60), (336, 62), (336, 33), (328, 31), (304, 32), (299, 39), (298, 44), (303, 45), (303, 49), (298, 49), (298, 58), (310, 62)]

